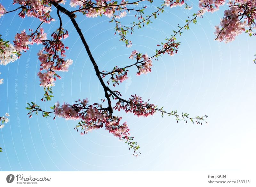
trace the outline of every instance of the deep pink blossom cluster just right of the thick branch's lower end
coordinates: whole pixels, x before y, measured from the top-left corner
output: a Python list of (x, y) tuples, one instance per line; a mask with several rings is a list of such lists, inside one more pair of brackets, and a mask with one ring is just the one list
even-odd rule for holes
[(143, 101), (141, 97), (137, 96), (136, 94), (134, 96), (131, 96), (132, 98), (129, 98), (129, 101), (127, 102), (119, 100), (116, 103), (114, 109), (118, 111), (120, 111), (120, 109), (123, 109), (126, 113), (131, 112), (134, 113), (134, 115), (144, 117), (147, 117), (148, 115), (153, 115), (156, 112), (155, 105)]

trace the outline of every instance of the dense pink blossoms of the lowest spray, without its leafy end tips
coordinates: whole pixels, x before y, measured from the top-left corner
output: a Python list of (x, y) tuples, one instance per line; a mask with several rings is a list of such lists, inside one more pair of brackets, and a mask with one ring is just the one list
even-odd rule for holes
[[(104, 100), (102, 100), (104, 102)], [(114, 136), (126, 139), (128, 138), (129, 128), (126, 122), (120, 125), (121, 117), (109, 115), (106, 109), (102, 108), (102, 104), (88, 105), (88, 99), (78, 100), (76, 104), (70, 105), (64, 103), (60, 105), (59, 102), (54, 105), (55, 116), (65, 118), (66, 120), (78, 120), (75, 129), (81, 128), (81, 135), (92, 131), (93, 129), (102, 128), (105, 125), (106, 130), (112, 133)]]

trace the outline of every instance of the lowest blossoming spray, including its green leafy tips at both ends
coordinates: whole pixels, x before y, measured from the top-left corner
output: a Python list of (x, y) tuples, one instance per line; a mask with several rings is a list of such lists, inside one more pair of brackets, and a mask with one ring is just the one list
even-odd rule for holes
[[(135, 96), (136, 97), (136, 96)], [(76, 104), (70, 105), (68, 103), (63, 103), (60, 105), (59, 102), (55, 103), (52, 107), (53, 112), (45, 112), (34, 102), (31, 105), (28, 104), (29, 117), (33, 113), (42, 112), (43, 116), (49, 116), (50, 113), (54, 113), (55, 117), (65, 118), (66, 120), (80, 120), (78, 125), (75, 127), (76, 131), (81, 130), (80, 135), (87, 134), (88, 132), (105, 127), (109, 133), (118, 137), (119, 139), (124, 139), (126, 143), (129, 144), (130, 148), (134, 151), (134, 155), (138, 155), (139, 146), (136, 142), (132, 142), (133, 137), (130, 137), (130, 129), (127, 122), (120, 124), (122, 117), (117, 117), (109, 114), (106, 108), (102, 108), (102, 104), (105, 100), (101, 100), (102, 103), (94, 103), (93, 105), (88, 104), (88, 99), (78, 100)], [(140, 102), (138, 99), (134, 98), (135, 103)], [(54, 117), (54, 119), (55, 119)]]

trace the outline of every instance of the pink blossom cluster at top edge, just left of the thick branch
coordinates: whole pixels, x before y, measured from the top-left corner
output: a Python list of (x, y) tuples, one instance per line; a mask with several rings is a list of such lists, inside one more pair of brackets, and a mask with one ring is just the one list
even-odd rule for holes
[[(60, 3), (64, 3), (64, 1)], [(35, 17), (45, 23), (55, 21), (50, 16), (50, 12), (52, 11), (50, 0), (13, 0), (13, 4), (20, 4), (22, 6), (22, 10), (19, 13), (21, 18), (25, 18), (25, 16)]]

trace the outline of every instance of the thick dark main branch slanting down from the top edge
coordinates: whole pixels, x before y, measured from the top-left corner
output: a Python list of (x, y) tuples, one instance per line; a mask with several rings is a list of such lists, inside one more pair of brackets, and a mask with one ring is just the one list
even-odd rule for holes
[(87, 44), (87, 42), (86, 42), (86, 40), (85, 40), (85, 38), (84, 38), (84, 35), (83, 35), (81, 29), (79, 28), (79, 26), (78, 26), (76, 20), (75, 20), (76, 15), (75, 15), (74, 13), (68, 11), (68, 10), (65, 9), (64, 7), (60, 6), (58, 3), (51, 2), (51, 4), (52, 4), (53, 6), (55, 6), (55, 7), (57, 8), (57, 10), (59, 10), (60, 12), (66, 14), (66, 15), (71, 19), (71, 22), (73, 23), (74, 27), (76, 28), (76, 31), (77, 31), (79, 37), (81, 38), (81, 40), (82, 40), (82, 42), (83, 42), (83, 44), (84, 44), (84, 48), (85, 48), (85, 50), (86, 50), (86, 52), (87, 52), (87, 54), (88, 54), (88, 56), (89, 56), (89, 58), (90, 58), (90, 60), (91, 60), (91, 62), (92, 62), (92, 65), (93, 65), (93, 67), (94, 67), (94, 70), (95, 70), (95, 72), (96, 72), (96, 75), (97, 75), (97, 77), (99, 78), (100, 83), (101, 83), (101, 85), (102, 85), (102, 87), (103, 87), (103, 89), (104, 89), (105, 97), (106, 97), (107, 100), (108, 100), (108, 111), (110, 112), (110, 114), (112, 114), (112, 113), (113, 113), (113, 109), (112, 109), (112, 106), (111, 106), (110, 97), (109, 97), (109, 95), (108, 95), (108, 87), (106, 86), (106, 84), (104, 83), (102, 77), (100, 76), (99, 67), (98, 67), (96, 61), (94, 60), (94, 58), (92, 57), (92, 53), (91, 53), (91, 51), (90, 51), (90, 49), (89, 49), (89, 46), (88, 46), (88, 44)]

